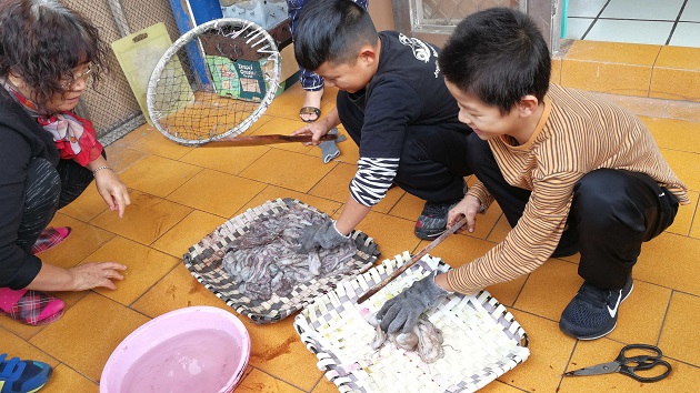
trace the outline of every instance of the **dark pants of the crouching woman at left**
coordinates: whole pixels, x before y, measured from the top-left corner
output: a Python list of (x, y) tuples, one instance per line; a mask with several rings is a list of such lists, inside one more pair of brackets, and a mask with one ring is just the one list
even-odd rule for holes
[(93, 180), (92, 172), (73, 160), (53, 168), (44, 159), (32, 159), (27, 171), (26, 198), (17, 245), (27, 253), (56, 212), (74, 201)]

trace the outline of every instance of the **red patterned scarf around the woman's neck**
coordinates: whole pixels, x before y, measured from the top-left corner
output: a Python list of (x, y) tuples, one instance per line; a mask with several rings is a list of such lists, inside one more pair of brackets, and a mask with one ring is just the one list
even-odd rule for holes
[(3, 84), (17, 102), (37, 119), (39, 125), (51, 133), (61, 160), (76, 160), (84, 167), (100, 157), (102, 144), (98, 142), (90, 120), (79, 118), (72, 112), (41, 114), (37, 104), (17, 91), (9, 81), (6, 80)]

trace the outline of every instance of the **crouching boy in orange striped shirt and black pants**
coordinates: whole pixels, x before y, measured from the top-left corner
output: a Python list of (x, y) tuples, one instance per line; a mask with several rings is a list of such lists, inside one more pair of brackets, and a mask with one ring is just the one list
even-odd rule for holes
[(550, 84), (551, 58), (523, 13), (493, 8), (466, 18), (440, 54), (440, 69), (473, 133), (467, 154), (479, 182), (448, 215), (449, 224), (496, 200), (512, 226), (483, 256), (428, 276), (379, 311), (386, 331), (409, 331), (449, 291), (472, 294), (580, 252), (584, 280), (559, 323), (593, 340), (617, 325), (632, 291), (642, 242), (666, 230), (686, 185), (647, 127), (597, 97)]

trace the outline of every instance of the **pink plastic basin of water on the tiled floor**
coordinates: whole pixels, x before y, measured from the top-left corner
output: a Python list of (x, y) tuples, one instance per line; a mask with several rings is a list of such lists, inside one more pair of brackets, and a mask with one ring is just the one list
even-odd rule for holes
[(171, 311), (147, 322), (117, 346), (101, 393), (232, 392), (250, 359), (250, 335), (236, 315), (217, 308)]

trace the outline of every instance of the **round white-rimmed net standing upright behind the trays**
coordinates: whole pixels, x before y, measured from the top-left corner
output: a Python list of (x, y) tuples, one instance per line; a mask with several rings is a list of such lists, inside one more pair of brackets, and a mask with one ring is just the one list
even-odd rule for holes
[(201, 24), (171, 47), (153, 71), (148, 108), (153, 125), (181, 144), (247, 130), (279, 88), (274, 40), (254, 23)]

